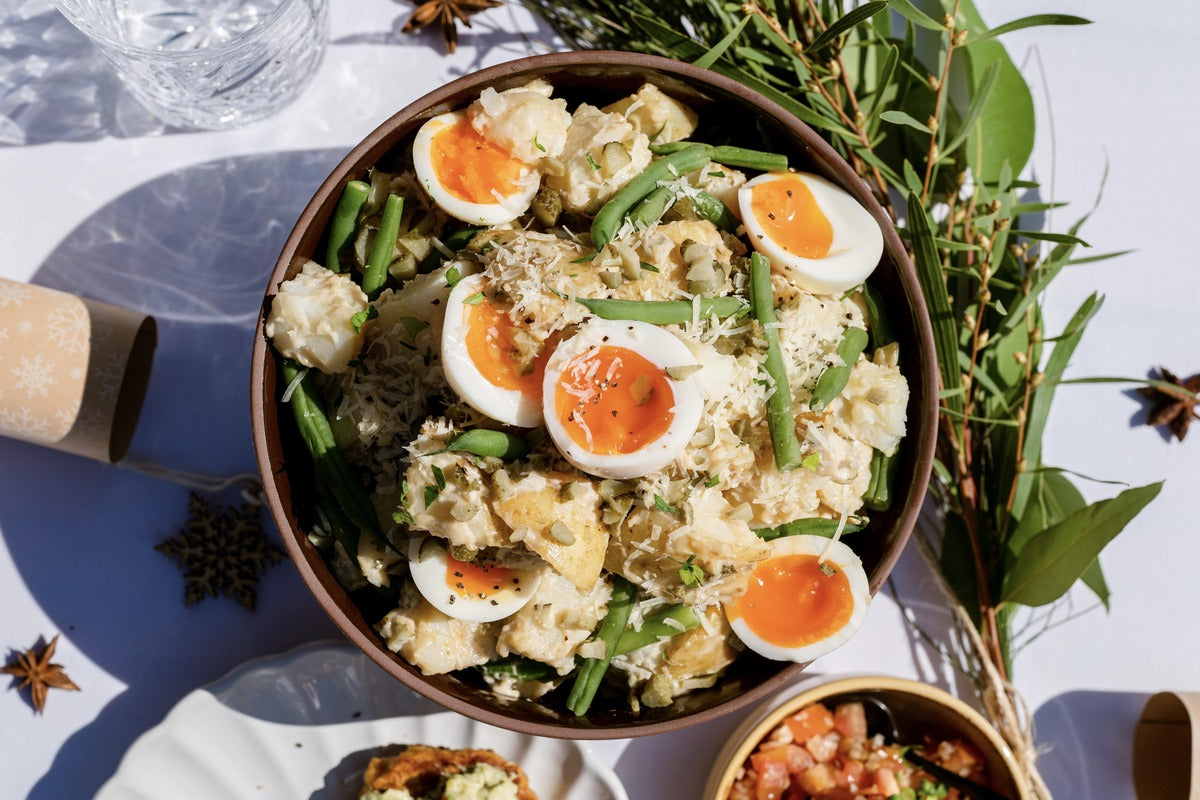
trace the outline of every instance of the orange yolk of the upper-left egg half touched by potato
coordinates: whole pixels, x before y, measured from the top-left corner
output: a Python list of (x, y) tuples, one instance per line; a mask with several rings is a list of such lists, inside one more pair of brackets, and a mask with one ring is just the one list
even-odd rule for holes
[(496, 204), (512, 194), (526, 166), (479, 134), (464, 116), (433, 134), (433, 174), (460, 200)]

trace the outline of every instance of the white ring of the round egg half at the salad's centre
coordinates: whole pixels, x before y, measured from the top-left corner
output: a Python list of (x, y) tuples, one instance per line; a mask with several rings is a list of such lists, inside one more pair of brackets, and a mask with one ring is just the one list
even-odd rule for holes
[(666, 369), (697, 363), (683, 342), (670, 331), (648, 323), (592, 319), (578, 332), (558, 344), (546, 362), (542, 380), (542, 419), (550, 438), (563, 457), (589, 475), (632, 479), (670, 464), (696, 433), (704, 409), (703, 385), (698, 374), (684, 380), (666, 377), (674, 393), (674, 417), (661, 437), (630, 453), (596, 453), (576, 443), (566, 432), (554, 409), (554, 397), (563, 369), (578, 355), (601, 345), (634, 350), (650, 363)]

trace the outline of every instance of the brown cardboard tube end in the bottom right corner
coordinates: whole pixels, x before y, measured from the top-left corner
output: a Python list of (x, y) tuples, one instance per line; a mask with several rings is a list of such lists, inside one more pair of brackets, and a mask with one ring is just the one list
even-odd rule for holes
[(1159, 692), (1133, 739), (1138, 800), (1200, 800), (1200, 692)]

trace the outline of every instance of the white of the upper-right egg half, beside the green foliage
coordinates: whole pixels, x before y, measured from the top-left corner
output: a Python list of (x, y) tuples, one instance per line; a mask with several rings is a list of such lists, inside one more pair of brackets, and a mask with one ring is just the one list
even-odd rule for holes
[[(798, 176), (817, 207), (829, 219), (833, 242), (824, 258), (805, 258), (784, 249), (755, 217), (751, 193), (755, 186)], [(857, 287), (875, 270), (883, 255), (883, 231), (871, 212), (845, 190), (810, 173), (764, 173), (738, 190), (738, 207), (755, 249), (770, 259), (772, 269), (787, 275), (793, 283), (812, 294), (840, 294)]]

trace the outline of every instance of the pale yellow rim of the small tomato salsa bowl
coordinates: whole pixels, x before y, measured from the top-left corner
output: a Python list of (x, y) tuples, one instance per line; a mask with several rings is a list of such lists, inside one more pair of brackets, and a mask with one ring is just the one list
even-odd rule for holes
[(797, 710), (820, 703), (838, 694), (877, 692), (898, 692), (931, 700), (948, 709), (962, 720), (970, 728), (979, 733), (1000, 757), (1004, 769), (1016, 787), (1018, 800), (1033, 800), (1024, 781), (1019, 780), (1021, 769), (1013, 756), (1008, 742), (1001, 738), (995, 727), (979, 711), (965, 700), (950, 694), (943, 688), (907, 678), (893, 675), (856, 674), (842, 676), (814, 675), (812, 680), (802, 681), (793, 692), (782, 692), (766, 703), (758, 714), (752, 714), (733, 733), (725, 747), (718, 754), (713, 770), (709, 772), (702, 800), (726, 800), (733, 784), (734, 775), (754, 752), (754, 748), (766, 735)]

